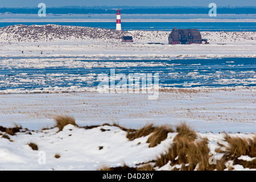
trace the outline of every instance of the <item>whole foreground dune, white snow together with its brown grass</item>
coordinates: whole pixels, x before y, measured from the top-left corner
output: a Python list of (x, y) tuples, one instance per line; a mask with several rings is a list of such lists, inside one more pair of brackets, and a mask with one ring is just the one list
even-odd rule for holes
[(146, 171), (255, 170), (254, 134), (201, 134), (184, 125), (178, 127), (191, 135), (171, 129), (158, 143), (150, 140), (159, 138), (155, 133), (147, 130), (147, 134), (129, 138), (130, 131), (118, 125), (69, 124), (61, 130), (38, 131), (0, 127), (0, 170), (108, 170), (124, 164), (137, 170), (150, 165), (151, 169), (143, 168)]

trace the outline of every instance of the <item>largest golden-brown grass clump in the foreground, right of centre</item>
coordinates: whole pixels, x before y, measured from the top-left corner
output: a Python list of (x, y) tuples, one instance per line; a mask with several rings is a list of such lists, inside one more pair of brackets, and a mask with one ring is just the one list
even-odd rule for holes
[(208, 140), (196, 140), (195, 131), (189, 129), (184, 123), (177, 126), (178, 134), (174, 138), (174, 143), (168, 148), (165, 154), (161, 154), (155, 166), (162, 167), (171, 161), (171, 165), (181, 164), (183, 171), (212, 171), (214, 169), (223, 170), (224, 160), (218, 160), (217, 165), (209, 164)]

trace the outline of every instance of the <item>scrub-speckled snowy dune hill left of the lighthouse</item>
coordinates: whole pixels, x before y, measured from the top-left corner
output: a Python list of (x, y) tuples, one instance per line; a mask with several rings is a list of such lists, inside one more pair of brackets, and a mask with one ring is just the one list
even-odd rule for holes
[(48, 25), (15, 25), (0, 28), (0, 38), (7, 42), (49, 42), (54, 40), (119, 40), (124, 31), (103, 28)]

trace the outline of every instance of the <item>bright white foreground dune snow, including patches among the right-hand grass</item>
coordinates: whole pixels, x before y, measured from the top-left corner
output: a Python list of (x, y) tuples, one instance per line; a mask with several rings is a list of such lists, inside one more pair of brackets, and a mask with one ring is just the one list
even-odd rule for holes
[[(126, 131), (115, 126), (98, 126), (93, 129), (78, 128), (67, 125), (63, 131), (57, 127), (48, 130), (21, 132), (10, 136), (10, 139), (0, 138), (0, 170), (97, 170), (105, 166), (117, 167), (126, 164), (138, 167), (142, 163), (156, 160), (174, 142), (177, 133), (168, 133), (167, 138), (155, 147), (148, 147), (146, 137), (130, 141), (126, 138)], [(4, 134), (0, 132), (0, 134)], [(226, 134), (200, 134), (197, 139), (207, 139), (210, 151), (220, 148), (219, 144), (228, 146), (225, 142)], [(254, 134), (229, 134), (230, 137), (252, 139)], [(28, 144), (33, 143), (36, 148)], [(222, 158), (223, 153), (216, 153), (216, 160)], [(209, 158), (212, 155), (209, 155)], [(250, 162), (255, 158), (240, 156), (243, 162)], [(225, 170), (250, 170), (233, 160), (225, 163)], [(152, 163), (154, 166), (154, 163)], [(165, 166), (155, 169), (171, 170), (181, 168), (181, 164)], [(255, 170), (251, 168), (251, 170)]]

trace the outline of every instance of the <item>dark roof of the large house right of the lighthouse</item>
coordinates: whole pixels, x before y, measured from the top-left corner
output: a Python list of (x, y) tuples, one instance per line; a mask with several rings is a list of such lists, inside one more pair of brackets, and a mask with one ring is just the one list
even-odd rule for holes
[(172, 39), (172, 41), (180, 41), (180, 38), (187, 38), (187, 40), (202, 40), (201, 34), (197, 29), (174, 28), (169, 35), (169, 39)]

